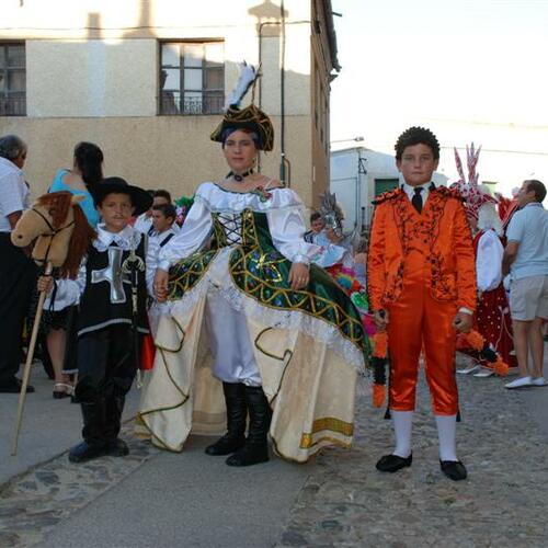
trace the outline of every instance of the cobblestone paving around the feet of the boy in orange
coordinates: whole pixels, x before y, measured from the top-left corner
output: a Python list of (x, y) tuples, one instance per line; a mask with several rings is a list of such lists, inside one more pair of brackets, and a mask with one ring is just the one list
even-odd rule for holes
[(503, 383), (459, 377), (457, 443), (469, 473), (461, 482), (439, 470), (424, 381), (413, 465), (393, 475), (375, 470), (392, 448), (391, 424), (362, 399), (354, 448), (318, 459), (279, 546), (547, 546), (547, 438), (527, 412), (528, 393)]

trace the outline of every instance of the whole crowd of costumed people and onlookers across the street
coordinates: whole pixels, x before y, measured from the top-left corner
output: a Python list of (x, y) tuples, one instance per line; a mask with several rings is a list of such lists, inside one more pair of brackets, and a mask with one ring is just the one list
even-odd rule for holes
[[(226, 434), (206, 453), (227, 456), (227, 465), (267, 460), (267, 436), (277, 455), (306, 461), (323, 446), (350, 446), (357, 375), (384, 334), (396, 447), (377, 469), (412, 464), (422, 355), (441, 469), (465, 479), (457, 347), (475, 359), (463, 373), (494, 369), (477, 350), (458, 346), (459, 336), (476, 330), (510, 367), (517, 364), (507, 389), (547, 384), (544, 184), (525, 181), (512, 218), (501, 219), (473, 170), (450, 187), (432, 183), (439, 145), (429, 129), (411, 127), (396, 144), (402, 184), (377, 196), (367, 235), (345, 235), (336, 207), (312, 213), (306, 231), (298, 195), (253, 170), (259, 152), (273, 148), (265, 113), (236, 101), (212, 139), (230, 171), (197, 187), (182, 226), (169, 192), (105, 178), (103, 151), (78, 144), (72, 167), (49, 189), (79, 196), (75, 207), (92, 229), (70, 276), (38, 272), (31, 250), (12, 243), (30, 208), (27, 148), (16, 136), (0, 138), (0, 392), (21, 390), (24, 321), (33, 294), (45, 292), (41, 333), (53, 396), (82, 409), (83, 441), (71, 461), (127, 455), (121, 415), (139, 367), (137, 429), (156, 445), (181, 450), (191, 432), (216, 433), (226, 420)], [(147, 338), (156, 355), (142, 367)]]

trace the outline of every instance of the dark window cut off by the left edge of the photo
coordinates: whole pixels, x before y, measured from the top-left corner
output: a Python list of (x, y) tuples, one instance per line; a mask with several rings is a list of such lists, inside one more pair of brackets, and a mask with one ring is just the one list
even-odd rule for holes
[(0, 116), (25, 115), (25, 46), (0, 44)]

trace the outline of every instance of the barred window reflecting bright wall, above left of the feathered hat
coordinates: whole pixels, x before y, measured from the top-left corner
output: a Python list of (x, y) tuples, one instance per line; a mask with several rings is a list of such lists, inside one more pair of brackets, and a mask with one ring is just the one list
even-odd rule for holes
[(222, 42), (164, 42), (161, 44), (160, 55), (160, 114), (222, 112)]

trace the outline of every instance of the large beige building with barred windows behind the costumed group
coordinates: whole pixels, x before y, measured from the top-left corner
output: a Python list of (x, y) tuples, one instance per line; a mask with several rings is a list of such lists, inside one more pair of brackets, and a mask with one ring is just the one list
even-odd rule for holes
[(27, 141), (34, 195), (80, 140), (105, 174), (190, 194), (227, 171), (209, 134), (243, 59), (262, 66), (255, 104), (276, 130), (260, 169), (317, 205), (340, 68), (330, 0), (5, 0), (0, 135)]

